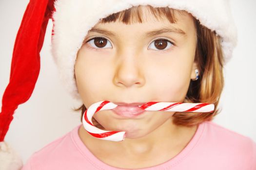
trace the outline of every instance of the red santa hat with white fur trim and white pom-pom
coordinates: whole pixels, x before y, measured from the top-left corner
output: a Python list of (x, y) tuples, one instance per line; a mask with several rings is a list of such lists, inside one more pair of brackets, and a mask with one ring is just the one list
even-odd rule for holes
[(30, 0), (15, 41), (10, 82), (2, 97), (0, 112), (0, 170), (19, 170), (20, 157), (4, 142), (14, 111), (26, 102), (35, 87), (39, 69), (39, 52), (48, 20), (53, 19), (52, 53), (60, 79), (77, 100), (74, 77), (76, 55), (87, 32), (113, 13), (138, 5), (185, 10), (221, 37), (224, 63), (236, 46), (236, 27), (228, 0)]

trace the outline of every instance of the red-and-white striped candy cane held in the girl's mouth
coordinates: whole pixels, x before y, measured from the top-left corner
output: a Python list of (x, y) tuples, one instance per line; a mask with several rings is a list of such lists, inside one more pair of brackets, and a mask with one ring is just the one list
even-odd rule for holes
[[(109, 101), (93, 103), (83, 114), (83, 127), (92, 136), (110, 141), (122, 141), (125, 138), (125, 132), (105, 131), (98, 129), (93, 125), (92, 117), (100, 110), (111, 110), (118, 105)], [(181, 103), (181, 102), (147, 102), (139, 105), (140, 108), (147, 111), (169, 111), (169, 112), (213, 112), (214, 104), (208, 103)]]

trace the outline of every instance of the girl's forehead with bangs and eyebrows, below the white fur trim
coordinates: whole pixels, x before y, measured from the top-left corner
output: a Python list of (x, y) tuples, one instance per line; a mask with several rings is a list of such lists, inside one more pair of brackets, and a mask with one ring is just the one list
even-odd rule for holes
[(111, 36), (114, 36), (115, 32), (118, 31), (147, 32), (145, 36), (153, 36), (161, 32), (186, 35), (186, 32), (195, 27), (194, 19), (191, 14), (185, 11), (137, 6), (101, 19), (89, 32)]

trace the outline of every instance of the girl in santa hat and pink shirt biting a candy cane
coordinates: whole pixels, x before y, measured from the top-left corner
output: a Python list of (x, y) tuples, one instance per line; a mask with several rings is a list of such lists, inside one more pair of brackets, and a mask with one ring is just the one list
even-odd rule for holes
[[(125, 131), (126, 138), (100, 140), (79, 125), (34, 153), (22, 170), (255, 170), (256, 143), (211, 122), (219, 113), (222, 68), (236, 44), (228, 3), (104, 2), (30, 1), (3, 96), (1, 141), (13, 111), (33, 91), (49, 17), (54, 21), (54, 59), (67, 89), (83, 103), (78, 110), (83, 114), (98, 101), (116, 103), (119, 110), (100, 111), (93, 124), (102, 130)], [(26, 60), (20, 61), (24, 56)], [(33, 68), (22, 68), (26, 64)], [(27, 79), (21, 90), (14, 88)], [(13, 91), (20, 96), (12, 97)], [(206, 102), (216, 109), (139, 111), (138, 105), (152, 101)]]

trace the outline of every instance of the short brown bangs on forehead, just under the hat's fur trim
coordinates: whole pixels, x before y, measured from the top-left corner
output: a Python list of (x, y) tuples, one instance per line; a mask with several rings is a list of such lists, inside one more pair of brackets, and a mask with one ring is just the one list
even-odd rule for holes
[[(175, 10), (169, 7), (158, 7), (154, 8), (150, 5), (146, 5), (146, 10), (148, 10), (156, 19), (161, 20), (164, 17), (167, 18), (170, 23), (176, 23)], [(179, 11), (178, 11), (179, 12)], [(142, 23), (145, 18), (143, 17), (143, 9), (141, 5), (133, 6), (124, 11), (112, 14), (108, 17), (100, 19), (99, 23), (109, 23), (121, 21), (124, 24), (131, 23)]]

